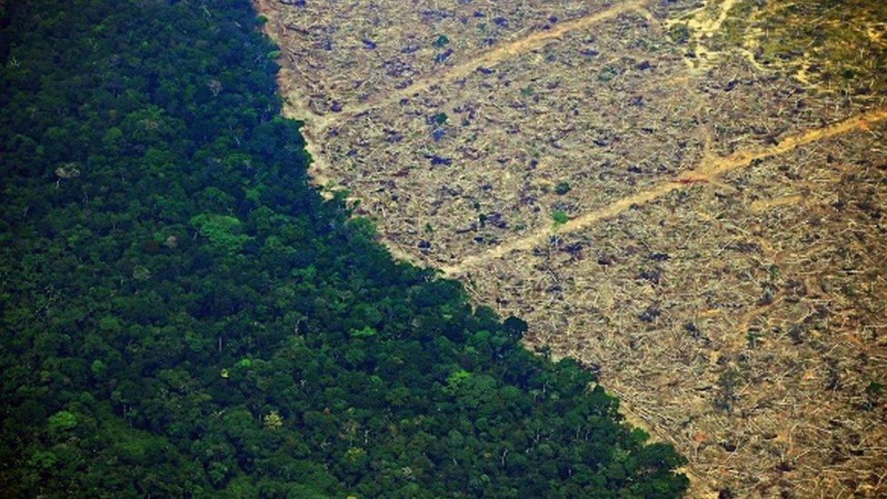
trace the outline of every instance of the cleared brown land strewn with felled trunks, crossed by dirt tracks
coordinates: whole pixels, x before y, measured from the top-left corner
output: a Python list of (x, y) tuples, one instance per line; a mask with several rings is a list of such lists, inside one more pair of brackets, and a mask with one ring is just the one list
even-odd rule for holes
[(315, 180), (697, 494), (887, 494), (883, 5), (258, 4)]

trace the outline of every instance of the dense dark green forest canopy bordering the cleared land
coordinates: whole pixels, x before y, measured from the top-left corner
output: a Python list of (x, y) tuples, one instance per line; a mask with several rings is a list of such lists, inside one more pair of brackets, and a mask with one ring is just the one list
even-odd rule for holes
[(308, 185), (259, 22), (0, 4), (0, 494), (681, 494), (592, 374)]

